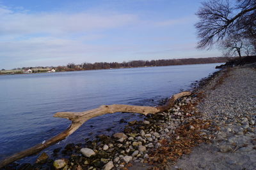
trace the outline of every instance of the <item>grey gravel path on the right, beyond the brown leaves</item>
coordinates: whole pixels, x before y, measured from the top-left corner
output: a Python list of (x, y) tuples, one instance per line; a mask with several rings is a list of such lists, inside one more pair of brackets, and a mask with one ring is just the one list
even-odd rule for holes
[(198, 90), (206, 95), (198, 110), (220, 131), (169, 169), (256, 169), (256, 70), (234, 67), (213, 90), (224, 72)]

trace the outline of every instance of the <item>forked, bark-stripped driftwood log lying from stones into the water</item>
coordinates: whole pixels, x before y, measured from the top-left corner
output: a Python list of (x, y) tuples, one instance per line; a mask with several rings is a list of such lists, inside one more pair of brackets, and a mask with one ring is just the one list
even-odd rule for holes
[(61, 132), (57, 136), (45, 141), (45, 143), (39, 143), (31, 148), (28, 148), (22, 152), (15, 153), (10, 157), (6, 157), (6, 159), (1, 160), (0, 168), (4, 167), (15, 160), (22, 159), (23, 157), (28, 157), (29, 155), (33, 155), (35, 153), (40, 152), (44, 148), (51, 146), (58, 141), (61, 141), (67, 136), (70, 136), (73, 132), (75, 132), (81, 125), (84, 124), (87, 120), (93, 117), (99, 117), (100, 115), (104, 115), (106, 113), (116, 113), (116, 112), (123, 112), (123, 113), (141, 113), (143, 115), (147, 115), (148, 113), (159, 113), (163, 111), (167, 111), (175, 104), (175, 101), (180, 97), (185, 97), (191, 95), (191, 92), (180, 92), (179, 94), (173, 95), (164, 106), (131, 106), (131, 105), (124, 105), (124, 104), (112, 104), (112, 105), (102, 105), (99, 108), (95, 108), (93, 110), (83, 111), (83, 112), (58, 112), (55, 113), (54, 117), (60, 118), (67, 118), (68, 120), (72, 120), (72, 124), (68, 129)]

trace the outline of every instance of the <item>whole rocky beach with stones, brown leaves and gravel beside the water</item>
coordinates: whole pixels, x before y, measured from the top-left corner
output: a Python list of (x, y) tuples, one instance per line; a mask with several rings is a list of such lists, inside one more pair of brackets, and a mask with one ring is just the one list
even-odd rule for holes
[(5, 169), (255, 169), (255, 82), (255, 64), (222, 69), (166, 113)]

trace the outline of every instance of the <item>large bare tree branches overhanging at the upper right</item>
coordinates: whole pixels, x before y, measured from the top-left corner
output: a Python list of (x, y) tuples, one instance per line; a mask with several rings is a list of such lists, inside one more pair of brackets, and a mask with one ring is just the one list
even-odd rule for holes
[(211, 48), (230, 34), (256, 39), (256, 1), (209, 0), (202, 3), (196, 13), (200, 19), (195, 27), (198, 32), (197, 48)]

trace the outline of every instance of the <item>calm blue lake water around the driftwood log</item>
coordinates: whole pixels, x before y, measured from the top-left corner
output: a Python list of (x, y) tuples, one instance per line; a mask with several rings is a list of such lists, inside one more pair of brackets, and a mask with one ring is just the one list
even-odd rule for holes
[[(84, 111), (114, 103), (154, 106), (163, 98), (189, 89), (191, 83), (216, 71), (216, 65), (220, 64), (0, 76), (0, 159), (66, 129), (70, 121), (52, 117), (58, 111)], [(83, 142), (90, 135), (120, 131), (124, 127), (119, 124), (120, 118), (131, 121), (136, 117), (116, 113), (93, 118), (46, 152)]]

